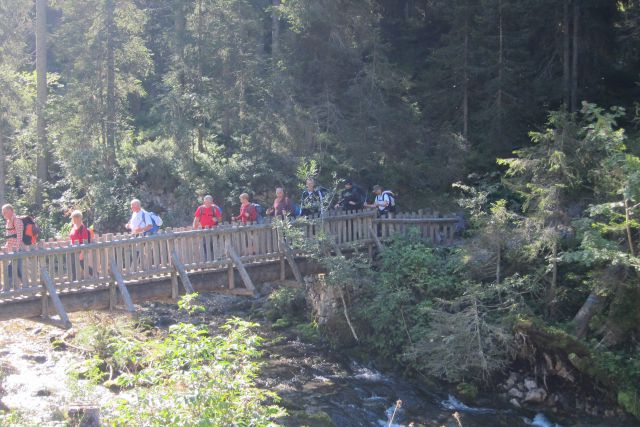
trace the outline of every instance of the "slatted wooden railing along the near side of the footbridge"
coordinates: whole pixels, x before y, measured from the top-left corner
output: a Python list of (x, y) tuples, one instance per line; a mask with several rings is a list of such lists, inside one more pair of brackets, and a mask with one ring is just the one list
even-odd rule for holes
[[(434, 242), (447, 243), (453, 237), (455, 219), (405, 216), (377, 220), (371, 211), (332, 212), (321, 220), (296, 221), (295, 225), (303, 227), (309, 238), (320, 232), (330, 234), (340, 246), (371, 245), (372, 233), (387, 238), (410, 226), (418, 227)], [(42, 241), (24, 251), (0, 254), (0, 301), (41, 294), (43, 269), (59, 292), (73, 292), (110, 286), (114, 269), (131, 282), (175, 274), (175, 260), (187, 272), (232, 268), (229, 249), (243, 263), (282, 260), (284, 255), (279, 231), (270, 223), (222, 224), (205, 230), (169, 228), (147, 237), (104, 234), (80, 245), (68, 240)]]

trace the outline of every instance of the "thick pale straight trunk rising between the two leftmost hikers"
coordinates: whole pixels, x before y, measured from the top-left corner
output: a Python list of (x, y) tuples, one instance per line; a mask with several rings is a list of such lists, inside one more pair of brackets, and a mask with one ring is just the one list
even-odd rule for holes
[(42, 205), (47, 181), (48, 146), (45, 107), (47, 105), (47, 0), (36, 0), (36, 192), (34, 203)]

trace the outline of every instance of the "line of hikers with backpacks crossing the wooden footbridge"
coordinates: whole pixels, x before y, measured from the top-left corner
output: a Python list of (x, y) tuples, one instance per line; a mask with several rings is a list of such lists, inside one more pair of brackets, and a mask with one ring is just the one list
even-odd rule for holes
[[(232, 220), (242, 224), (260, 223), (265, 215), (282, 218), (312, 216), (323, 214), (329, 208), (355, 212), (371, 208), (376, 209), (378, 217), (386, 217), (395, 211), (395, 197), (391, 191), (384, 191), (381, 186), (375, 185), (373, 194), (373, 202), (367, 203), (365, 191), (347, 178), (338, 201), (333, 204), (333, 197), (329, 196), (329, 192), (317, 186), (313, 178), (308, 178), (299, 204), (289, 198), (282, 187), (277, 187), (273, 205), (264, 212), (260, 204), (251, 203), (249, 195), (242, 193), (240, 212), (232, 216)], [(158, 231), (162, 225), (162, 219), (158, 215), (144, 210), (138, 199), (133, 199), (130, 207), (131, 217), (125, 227), (132, 234), (148, 236)], [(17, 252), (37, 242), (40, 231), (31, 216), (18, 216), (10, 204), (2, 206), (2, 216), (6, 221), (5, 244), (1, 248), (3, 252)], [(68, 237), (71, 243), (90, 243), (93, 240), (93, 230), (84, 225), (82, 212), (74, 210), (70, 216), (71, 229)], [(214, 203), (212, 196), (205, 196), (202, 205), (194, 213), (193, 228), (212, 228), (221, 222), (222, 209)]]

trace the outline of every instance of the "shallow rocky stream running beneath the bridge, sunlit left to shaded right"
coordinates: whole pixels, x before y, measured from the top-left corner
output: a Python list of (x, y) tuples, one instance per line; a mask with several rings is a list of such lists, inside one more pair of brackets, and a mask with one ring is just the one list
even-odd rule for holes
[[(267, 323), (256, 316), (256, 307), (259, 313), (264, 297), (208, 294), (200, 298), (206, 307), (203, 320), (210, 326), (222, 325), (232, 316)], [(137, 309), (141, 317), (162, 328), (184, 320), (173, 303), (149, 302)], [(253, 318), (249, 318), (251, 313)], [(91, 313), (75, 313), (70, 317), (75, 328), (98, 318)], [(74, 403), (100, 405), (113, 396), (102, 388), (98, 388), (94, 396), (82, 396), (68, 379), (68, 368), (81, 356), (71, 350), (54, 350), (51, 344), (66, 331), (30, 320), (6, 321), (1, 326), (0, 409), (19, 411), (23, 420), (27, 420), (23, 425), (64, 426), (64, 408)], [(258, 333), (266, 338), (266, 344), (262, 373), (256, 382), (281, 397), (280, 405), (289, 412), (288, 417), (279, 420), (285, 426), (640, 425), (628, 419), (515, 410), (497, 395), (481, 396), (478, 406), (471, 407), (444, 388), (428, 389), (417, 379), (381, 372), (326, 344), (305, 342), (291, 331), (274, 331), (262, 326)], [(398, 401), (401, 405), (397, 405)]]

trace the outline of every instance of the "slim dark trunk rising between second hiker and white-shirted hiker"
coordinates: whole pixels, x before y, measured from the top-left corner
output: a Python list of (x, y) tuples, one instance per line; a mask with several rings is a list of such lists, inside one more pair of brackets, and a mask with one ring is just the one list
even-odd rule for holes
[(106, 0), (104, 6), (105, 29), (107, 32), (107, 167), (113, 168), (116, 163), (116, 84), (115, 84), (115, 22), (114, 0)]

